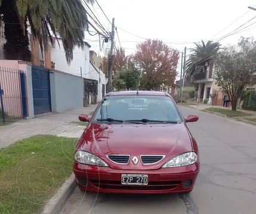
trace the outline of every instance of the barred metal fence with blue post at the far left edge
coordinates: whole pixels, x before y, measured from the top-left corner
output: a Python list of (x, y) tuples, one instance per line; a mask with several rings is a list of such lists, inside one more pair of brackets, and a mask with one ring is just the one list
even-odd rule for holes
[(28, 115), (24, 71), (0, 67), (0, 125), (26, 116)]

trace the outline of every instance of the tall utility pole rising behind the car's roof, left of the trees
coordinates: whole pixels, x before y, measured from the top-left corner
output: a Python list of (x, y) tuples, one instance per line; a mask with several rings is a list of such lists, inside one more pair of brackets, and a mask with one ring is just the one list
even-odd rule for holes
[(107, 93), (112, 89), (112, 64), (113, 64), (113, 49), (114, 49), (114, 37), (115, 37), (115, 18), (112, 19), (112, 32), (111, 32), (111, 46), (109, 52), (109, 70), (107, 71)]

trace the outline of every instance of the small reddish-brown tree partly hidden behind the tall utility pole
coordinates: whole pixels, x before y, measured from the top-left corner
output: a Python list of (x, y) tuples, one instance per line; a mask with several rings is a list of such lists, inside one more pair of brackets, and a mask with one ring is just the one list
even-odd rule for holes
[[(125, 70), (126, 68), (127, 68), (127, 58), (125, 56), (125, 49), (119, 48), (116, 51), (114, 51), (112, 70), (116, 73), (116, 71), (122, 71), (122, 70)], [(107, 74), (108, 69), (109, 69), (109, 58), (104, 56), (103, 73)]]

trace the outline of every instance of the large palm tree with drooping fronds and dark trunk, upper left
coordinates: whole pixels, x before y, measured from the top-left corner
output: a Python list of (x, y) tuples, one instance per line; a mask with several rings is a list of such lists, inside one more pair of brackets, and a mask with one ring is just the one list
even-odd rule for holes
[(0, 14), (4, 21), (4, 54), (7, 59), (31, 60), (27, 23), (33, 37), (42, 47), (53, 44), (53, 36), (60, 38), (67, 62), (73, 59), (73, 48), (84, 48), (84, 32), (88, 30), (87, 11), (83, 5), (94, 0), (0, 0)]

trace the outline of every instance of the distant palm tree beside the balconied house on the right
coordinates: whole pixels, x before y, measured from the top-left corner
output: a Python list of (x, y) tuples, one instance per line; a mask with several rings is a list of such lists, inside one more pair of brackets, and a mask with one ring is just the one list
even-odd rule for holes
[(186, 78), (192, 78), (195, 74), (196, 62), (200, 61), (203, 58), (211, 56), (214, 58), (217, 55), (218, 50), (220, 49), (220, 43), (208, 41), (202, 43), (195, 43), (195, 48), (190, 49), (189, 59), (186, 62)]

